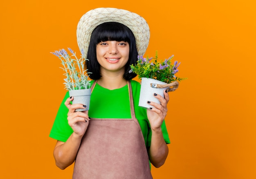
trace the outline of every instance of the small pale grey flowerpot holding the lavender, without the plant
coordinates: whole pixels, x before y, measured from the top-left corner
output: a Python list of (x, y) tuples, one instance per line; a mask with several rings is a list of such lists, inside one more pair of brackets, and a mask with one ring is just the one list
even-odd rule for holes
[(86, 106), (85, 109), (76, 109), (76, 111), (89, 110), (90, 108), (90, 97), (91, 89), (80, 89), (80, 90), (70, 90), (70, 96), (73, 96), (72, 104), (83, 104)]

